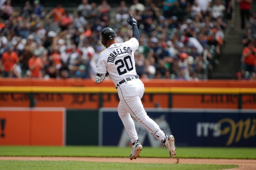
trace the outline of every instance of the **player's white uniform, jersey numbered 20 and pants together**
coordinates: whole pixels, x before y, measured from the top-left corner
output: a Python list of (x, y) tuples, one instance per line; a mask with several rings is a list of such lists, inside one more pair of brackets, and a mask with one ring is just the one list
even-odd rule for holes
[(136, 38), (131, 38), (124, 43), (112, 44), (101, 52), (97, 63), (95, 82), (100, 83), (108, 71), (110, 78), (116, 85), (120, 99), (118, 115), (121, 118), (124, 128), (128, 132), (131, 142), (138, 140), (131, 115), (140, 122), (160, 142), (164, 141), (165, 134), (151, 118), (148, 117), (141, 98), (145, 91), (144, 84), (140, 81), (135, 70), (134, 52), (139, 47)]

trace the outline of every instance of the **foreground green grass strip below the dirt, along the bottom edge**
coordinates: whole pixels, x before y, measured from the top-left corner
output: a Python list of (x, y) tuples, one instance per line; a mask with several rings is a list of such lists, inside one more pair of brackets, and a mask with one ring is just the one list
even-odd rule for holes
[(175, 170), (218, 170), (238, 167), (235, 165), (206, 165), (206, 164), (138, 164), (138, 163), (116, 163), (116, 162), (84, 162), (84, 161), (0, 161), (0, 169), (125, 169), (125, 170), (148, 170), (148, 169), (175, 169)]

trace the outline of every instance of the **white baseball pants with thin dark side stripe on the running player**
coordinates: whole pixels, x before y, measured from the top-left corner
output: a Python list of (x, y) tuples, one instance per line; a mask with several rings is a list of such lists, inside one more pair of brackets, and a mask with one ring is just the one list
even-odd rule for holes
[(160, 142), (164, 140), (165, 134), (159, 126), (151, 118), (148, 117), (142, 103), (141, 98), (144, 94), (144, 84), (140, 79), (132, 79), (127, 81), (117, 88), (120, 99), (118, 105), (118, 115), (121, 118), (124, 128), (134, 143), (138, 140), (138, 135), (135, 129), (131, 115), (144, 126), (154, 137)]

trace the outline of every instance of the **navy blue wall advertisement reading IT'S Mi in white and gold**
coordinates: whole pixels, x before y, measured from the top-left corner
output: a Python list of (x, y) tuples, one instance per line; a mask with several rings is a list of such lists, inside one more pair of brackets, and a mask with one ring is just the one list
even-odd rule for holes
[[(256, 110), (146, 109), (146, 111), (164, 133), (175, 136), (177, 146), (255, 146)], [(102, 126), (99, 127), (100, 145), (130, 145), (130, 138), (117, 110), (100, 109), (100, 120), (102, 120)], [(116, 123), (111, 123), (113, 121)], [(140, 123), (136, 120), (134, 122), (141, 144), (161, 146), (161, 143)]]

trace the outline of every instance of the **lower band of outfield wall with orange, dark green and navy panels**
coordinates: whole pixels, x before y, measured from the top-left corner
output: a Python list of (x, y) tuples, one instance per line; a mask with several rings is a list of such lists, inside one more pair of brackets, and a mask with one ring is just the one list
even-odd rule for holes
[[(256, 110), (146, 109), (177, 146), (256, 147)], [(161, 143), (137, 121), (144, 146)], [(0, 107), (0, 145), (114, 145), (129, 146), (130, 138), (116, 108)]]

